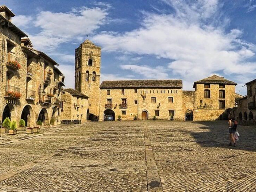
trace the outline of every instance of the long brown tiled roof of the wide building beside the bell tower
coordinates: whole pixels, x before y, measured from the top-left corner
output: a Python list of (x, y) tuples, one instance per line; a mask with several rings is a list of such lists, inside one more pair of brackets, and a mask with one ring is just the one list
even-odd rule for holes
[(182, 80), (103, 81), (100, 88), (182, 88)]

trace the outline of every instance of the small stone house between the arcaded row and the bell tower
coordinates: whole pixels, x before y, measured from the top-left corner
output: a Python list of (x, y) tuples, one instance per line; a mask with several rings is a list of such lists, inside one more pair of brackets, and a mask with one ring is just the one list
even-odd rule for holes
[(88, 97), (83, 93), (67, 88), (62, 91), (62, 120), (79, 120), (86, 122), (88, 109)]

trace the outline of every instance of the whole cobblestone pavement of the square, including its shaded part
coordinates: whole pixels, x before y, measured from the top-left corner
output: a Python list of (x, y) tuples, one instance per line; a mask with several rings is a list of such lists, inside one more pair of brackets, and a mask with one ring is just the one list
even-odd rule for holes
[(256, 191), (256, 127), (238, 130), (236, 148), (225, 121), (88, 122), (2, 135), (0, 191)]

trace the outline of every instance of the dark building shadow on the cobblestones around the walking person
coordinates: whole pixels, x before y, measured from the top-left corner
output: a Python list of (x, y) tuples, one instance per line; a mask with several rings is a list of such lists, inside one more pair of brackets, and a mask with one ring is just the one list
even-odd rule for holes
[[(213, 122), (191, 122), (198, 124), (202, 132), (193, 132), (190, 134), (194, 137), (196, 143), (202, 147), (218, 147), (218, 148), (232, 148), (237, 150), (256, 151), (256, 126), (242, 126), (238, 125), (237, 131), (240, 134), (239, 140), (236, 142), (237, 146), (228, 146), (229, 133), (228, 121)], [(200, 126), (200, 124), (202, 126)]]

